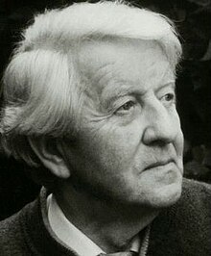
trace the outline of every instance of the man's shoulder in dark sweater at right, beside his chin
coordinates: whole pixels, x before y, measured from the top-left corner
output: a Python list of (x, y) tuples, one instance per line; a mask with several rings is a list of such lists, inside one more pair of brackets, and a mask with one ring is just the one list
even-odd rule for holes
[(152, 255), (210, 255), (211, 185), (183, 180), (175, 205), (152, 222)]

